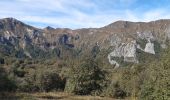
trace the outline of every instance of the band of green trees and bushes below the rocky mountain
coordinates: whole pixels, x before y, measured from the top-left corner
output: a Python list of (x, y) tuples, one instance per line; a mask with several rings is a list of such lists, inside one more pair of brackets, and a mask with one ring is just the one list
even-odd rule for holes
[[(91, 53), (88, 53), (91, 54)], [(66, 60), (0, 57), (1, 92), (62, 91), (141, 100), (170, 98), (170, 49), (160, 59), (114, 68), (105, 61), (107, 51)], [(145, 56), (145, 57), (144, 57)], [(2, 95), (1, 95), (2, 96)]]

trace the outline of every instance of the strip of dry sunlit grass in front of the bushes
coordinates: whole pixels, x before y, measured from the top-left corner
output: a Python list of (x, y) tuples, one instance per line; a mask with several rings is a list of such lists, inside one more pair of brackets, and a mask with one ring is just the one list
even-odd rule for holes
[(0, 100), (114, 100), (109, 97), (79, 96), (64, 92), (1, 93)]

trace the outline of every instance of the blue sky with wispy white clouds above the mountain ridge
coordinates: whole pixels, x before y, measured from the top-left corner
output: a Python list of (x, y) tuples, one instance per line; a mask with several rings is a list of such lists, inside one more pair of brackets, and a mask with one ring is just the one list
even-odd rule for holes
[(170, 0), (0, 0), (0, 18), (14, 17), (40, 28), (170, 19), (169, 9)]

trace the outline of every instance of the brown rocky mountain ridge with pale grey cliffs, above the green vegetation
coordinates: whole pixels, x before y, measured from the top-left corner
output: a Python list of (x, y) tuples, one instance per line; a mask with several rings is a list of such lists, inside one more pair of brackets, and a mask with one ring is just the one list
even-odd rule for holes
[(117, 21), (101, 28), (76, 30), (50, 26), (39, 29), (14, 18), (0, 19), (0, 55), (17, 58), (67, 59), (107, 51), (105, 59), (118, 67), (145, 62), (144, 55), (159, 58), (169, 39), (168, 19)]

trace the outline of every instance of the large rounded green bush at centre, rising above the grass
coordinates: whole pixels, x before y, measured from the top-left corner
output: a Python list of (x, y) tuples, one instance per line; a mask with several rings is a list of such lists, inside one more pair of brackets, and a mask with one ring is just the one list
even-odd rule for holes
[(91, 58), (70, 68), (65, 91), (80, 95), (100, 94), (106, 86), (105, 72)]

